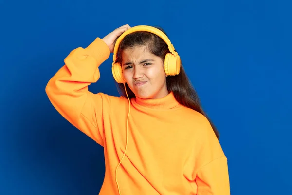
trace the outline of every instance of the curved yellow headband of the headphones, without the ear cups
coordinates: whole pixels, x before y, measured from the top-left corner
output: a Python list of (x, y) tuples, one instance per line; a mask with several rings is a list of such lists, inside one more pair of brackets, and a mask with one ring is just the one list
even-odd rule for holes
[(153, 33), (153, 34), (159, 36), (168, 45), (168, 49), (169, 49), (170, 53), (172, 53), (175, 56), (178, 55), (178, 53), (174, 51), (174, 46), (172, 45), (172, 43), (170, 42), (168, 37), (164, 34), (164, 32), (162, 32), (161, 30), (159, 30), (155, 27), (152, 27), (152, 26), (139, 25), (139, 26), (134, 26), (134, 27), (128, 29), (117, 39), (117, 41), (114, 45), (114, 49), (113, 49), (112, 65), (114, 65), (114, 63), (115, 63), (116, 54), (118, 52), (118, 48), (119, 48), (121, 41), (124, 39), (124, 37), (126, 35), (131, 34), (133, 32), (137, 32), (137, 31), (146, 31), (146, 32), (150, 32), (150, 33)]

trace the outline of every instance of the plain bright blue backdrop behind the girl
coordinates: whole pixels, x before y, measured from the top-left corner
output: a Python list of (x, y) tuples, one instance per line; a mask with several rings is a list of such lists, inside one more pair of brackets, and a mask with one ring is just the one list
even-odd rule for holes
[[(228, 157), (232, 195), (292, 195), (291, 1), (0, 0), (0, 195), (96, 195), (103, 148), (45, 93), (74, 48), (164, 28)], [(110, 58), (92, 92), (118, 95)]]

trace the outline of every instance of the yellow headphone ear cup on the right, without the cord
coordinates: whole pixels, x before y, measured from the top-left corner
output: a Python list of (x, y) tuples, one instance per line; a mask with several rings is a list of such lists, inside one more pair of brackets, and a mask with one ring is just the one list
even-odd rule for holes
[(178, 75), (181, 69), (181, 58), (171, 53), (165, 55), (164, 71), (166, 75)]

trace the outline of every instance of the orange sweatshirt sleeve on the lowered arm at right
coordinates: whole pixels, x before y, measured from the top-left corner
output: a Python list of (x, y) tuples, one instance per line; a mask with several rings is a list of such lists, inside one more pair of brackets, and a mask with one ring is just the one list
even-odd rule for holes
[(227, 157), (209, 121), (203, 120), (194, 174), (197, 195), (230, 195)]

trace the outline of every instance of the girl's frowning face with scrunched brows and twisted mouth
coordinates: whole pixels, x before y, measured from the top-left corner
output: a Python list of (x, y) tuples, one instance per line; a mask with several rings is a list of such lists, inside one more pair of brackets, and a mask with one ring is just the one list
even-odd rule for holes
[(123, 76), (138, 98), (158, 99), (168, 95), (162, 59), (148, 51), (147, 46), (122, 52)]

